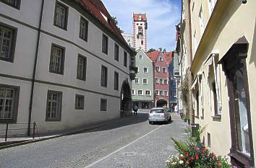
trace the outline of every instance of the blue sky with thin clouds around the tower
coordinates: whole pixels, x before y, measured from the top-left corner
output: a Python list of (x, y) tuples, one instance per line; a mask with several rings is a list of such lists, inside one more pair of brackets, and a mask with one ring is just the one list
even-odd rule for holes
[(180, 21), (180, 0), (102, 0), (119, 27), (132, 34), (132, 13), (147, 13), (148, 49), (175, 48), (175, 25)]

